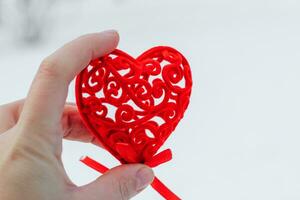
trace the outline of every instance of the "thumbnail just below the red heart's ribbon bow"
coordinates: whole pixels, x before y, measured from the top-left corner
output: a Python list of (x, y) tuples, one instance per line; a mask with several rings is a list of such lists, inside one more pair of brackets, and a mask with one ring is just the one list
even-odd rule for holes
[(154, 174), (151, 168), (142, 167), (136, 173), (137, 191), (145, 189), (154, 179)]

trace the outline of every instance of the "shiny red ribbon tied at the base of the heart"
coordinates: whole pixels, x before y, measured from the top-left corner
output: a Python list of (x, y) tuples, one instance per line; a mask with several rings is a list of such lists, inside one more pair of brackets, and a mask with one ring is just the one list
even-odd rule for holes
[[(148, 165), (151, 168), (157, 167), (163, 163), (166, 163), (172, 159), (172, 151), (170, 149), (164, 150), (144, 164)], [(99, 162), (93, 160), (92, 158), (85, 156), (80, 159), (85, 165), (90, 168), (104, 174), (109, 170), (106, 166), (100, 164)], [(181, 200), (176, 194), (174, 194), (166, 185), (164, 185), (157, 177), (154, 178), (152, 184), (152, 188), (155, 189), (162, 197), (166, 200)]]

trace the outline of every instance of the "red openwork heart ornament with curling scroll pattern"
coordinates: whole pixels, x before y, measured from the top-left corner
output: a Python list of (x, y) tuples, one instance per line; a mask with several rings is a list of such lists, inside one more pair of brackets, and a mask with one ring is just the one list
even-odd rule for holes
[(115, 50), (77, 76), (76, 100), (85, 125), (122, 164), (155, 167), (171, 159), (171, 151), (157, 152), (182, 119), (191, 89), (190, 66), (177, 50), (154, 47), (137, 59)]

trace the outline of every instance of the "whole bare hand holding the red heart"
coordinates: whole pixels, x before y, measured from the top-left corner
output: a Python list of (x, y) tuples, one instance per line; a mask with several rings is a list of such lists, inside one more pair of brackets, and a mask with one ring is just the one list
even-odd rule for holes
[(135, 164), (78, 187), (61, 161), (64, 138), (101, 146), (66, 97), (74, 77), (90, 60), (113, 51), (118, 40), (117, 32), (106, 31), (64, 45), (41, 63), (27, 98), (0, 106), (0, 199), (130, 199), (153, 181), (150, 168)]

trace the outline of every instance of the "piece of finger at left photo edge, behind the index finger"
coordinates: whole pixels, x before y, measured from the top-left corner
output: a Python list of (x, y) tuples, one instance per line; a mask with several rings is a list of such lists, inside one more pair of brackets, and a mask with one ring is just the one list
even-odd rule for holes
[(0, 134), (12, 128), (18, 121), (24, 100), (0, 106)]

